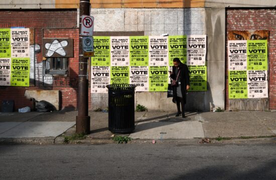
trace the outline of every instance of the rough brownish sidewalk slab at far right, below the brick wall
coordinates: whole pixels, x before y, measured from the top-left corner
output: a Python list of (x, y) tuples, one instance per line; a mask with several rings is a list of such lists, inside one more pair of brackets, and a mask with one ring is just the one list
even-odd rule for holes
[(203, 112), (205, 137), (241, 137), (275, 135), (276, 113), (267, 111)]

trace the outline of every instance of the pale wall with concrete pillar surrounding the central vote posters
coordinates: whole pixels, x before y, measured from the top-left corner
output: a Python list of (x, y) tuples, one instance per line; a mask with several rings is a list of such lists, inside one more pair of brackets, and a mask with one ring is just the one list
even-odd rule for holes
[[(144, 31), (144, 35), (207, 34), (208, 90), (189, 92), (187, 110), (224, 108), (225, 8), (106, 8), (91, 9), (94, 31)], [(108, 20), (106, 20), (108, 19)], [(104, 25), (102, 25), (104, 24)], [(111, 31), (111, 32), (110, 32)], [(92, 109), (106, 108), (107, 94), (91, 94)], [(137, 92), (136, 103), (151, 110), (175, 110), (166, 92)]]

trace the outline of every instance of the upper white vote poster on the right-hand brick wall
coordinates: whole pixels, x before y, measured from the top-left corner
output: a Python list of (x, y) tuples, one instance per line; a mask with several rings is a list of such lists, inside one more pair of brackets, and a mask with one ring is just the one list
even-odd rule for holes
[(228, 40), (228, 69), (247, 69), (247, 41)]

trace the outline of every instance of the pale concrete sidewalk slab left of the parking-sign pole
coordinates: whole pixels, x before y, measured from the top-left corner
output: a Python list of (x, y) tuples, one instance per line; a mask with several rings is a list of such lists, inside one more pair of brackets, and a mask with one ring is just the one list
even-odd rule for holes
[[(1, 122), (0, 126), (2, 126)], [(6, 124), (7, 125), (7, 124)], [(75, 125), (75, 122), (23, 122), (10, 130), (0, 134), (0, 137), (56, 137), (70, 127)]]

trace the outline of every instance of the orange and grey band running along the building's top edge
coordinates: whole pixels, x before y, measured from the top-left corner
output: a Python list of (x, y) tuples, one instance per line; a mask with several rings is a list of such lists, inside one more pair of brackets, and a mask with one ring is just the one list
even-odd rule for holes
[[(90, 0), (92, 8), (273, 7), (275, 0)], [(79, 0), (1, 0), (0, 8), (79, 8)]]

